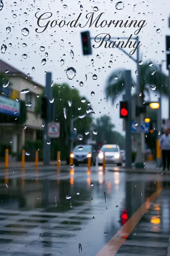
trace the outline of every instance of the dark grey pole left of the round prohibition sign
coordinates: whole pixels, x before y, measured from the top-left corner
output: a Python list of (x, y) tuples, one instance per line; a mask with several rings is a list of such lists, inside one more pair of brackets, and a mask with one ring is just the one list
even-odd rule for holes
[(51, 103), (49, 102), (49, 98), (51, 98), (51, 72), (47, 72), (46, 74), (46, 85), (45, 85), (45, 96), (47, 97), (47, 120), (45, 120), (44, 126), (44, 140), (43, 140), (43, 162), (44, 165), (50, 164), (51, 158), (51, 144), (47, 144), (47, 142), (51, 142), (51, 139), (47, 134), (47, 126), (51, 121)]

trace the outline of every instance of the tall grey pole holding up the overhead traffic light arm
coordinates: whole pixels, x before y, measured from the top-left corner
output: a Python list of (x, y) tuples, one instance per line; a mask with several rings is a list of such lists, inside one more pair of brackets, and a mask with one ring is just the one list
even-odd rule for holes
[[(139, 37), (137, 37), (137, 43), (139, 42)], [(142, 102), (141, 102), (141, 97), (139, 97), (139, 93), (140, 93), (140, 78), (141, 78), (141, 69), (140, 69), (140, 65), (139, 65), (139, 48), (137, 48), (137, 71), (138, 71), (138, 75), (137, 75), (137, 88), (136, 88), (136, 106), (142, 106)], [(142, 160), (142, 151), (141, 151), (141, 121), (142, 120), (142, 115), (139, 114), (139, 116), (137, 117), (136, 122), (138, 123), (137, 126), (137, 133), (136, 133), (136, 151), (137, 151), (137, 155), (136, 155), (136, 161), (135, 161), (135, 167), (136, 168), (143, 168), (143, 160)]]

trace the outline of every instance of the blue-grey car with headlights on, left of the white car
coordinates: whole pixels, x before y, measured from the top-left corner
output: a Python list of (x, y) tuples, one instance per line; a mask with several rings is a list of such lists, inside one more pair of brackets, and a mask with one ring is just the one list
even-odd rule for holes
[(87, 163), (89, 157), (91, 157), (91, 164), (96, 165), (97, 152), (92, 145), (77, 145), (70, 153), (70, 157), (74, 159), (76, 166)]

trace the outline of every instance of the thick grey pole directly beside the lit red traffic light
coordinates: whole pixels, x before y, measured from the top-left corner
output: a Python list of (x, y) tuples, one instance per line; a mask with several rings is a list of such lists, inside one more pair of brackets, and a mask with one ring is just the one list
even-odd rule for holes
[(125, 101), (128, 101), (128, 117), (125, 119), (126, 137), (125, 137), (125, 166), (132, 166), (132, 142), (131, 142), (131, 71), (125, 71)]

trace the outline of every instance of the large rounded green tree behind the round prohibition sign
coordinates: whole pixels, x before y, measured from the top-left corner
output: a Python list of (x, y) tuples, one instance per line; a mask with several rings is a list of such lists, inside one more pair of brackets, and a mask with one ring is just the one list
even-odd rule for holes
[[(38, 98), (36, 104), (36, 115), (40, 114), (40, 107), (41, 107), (41, 98), (44, 96), (44, 91)], [(54, 98), (55, 104), (55, 120), (60, 123), (60, 138), (55, 139), (58, 144), (59, 151), (63, 151), (65, 154), (68, 155), (69, 153), (69, 135), (70, 135), (70, 121), (73, 117), (77, 117), (80, 114), (85, 114), (87, 108), (88, 100), (85, 98), (85, 102), (82, 102), (81, 99), (83, 98), (77, 89), (72, 89), (67, 84), (56, 85), (54, 84), (52, 87), (52, 97)], [(69, 101), (72, 102), (71, 107), (69, 106)], [(64, 116), (64, 108), (67, 110), (67, 118), (65, 119)], [(78, 110), (78, 108), (80, 110)], [(85, 130), (89, 129), (89, 125), (92, 123), (92, 117), (89, 114), (86, 114), (84, 118), (79, 118), (75, 121), (74, 125), (77, 128), (77, 133), (84, 133)], [(54, 141), (54, 140), (53, 140)], [(76, 143), (76, 142), (75, 142)], [(84, 143), (81, 141), (81, 143)], [(51, 142), (52, 144), (52, 142)], [(51, 147), (52, 148), (52, 147)], [(62, 156), (65, 157), (64, 155)]]

